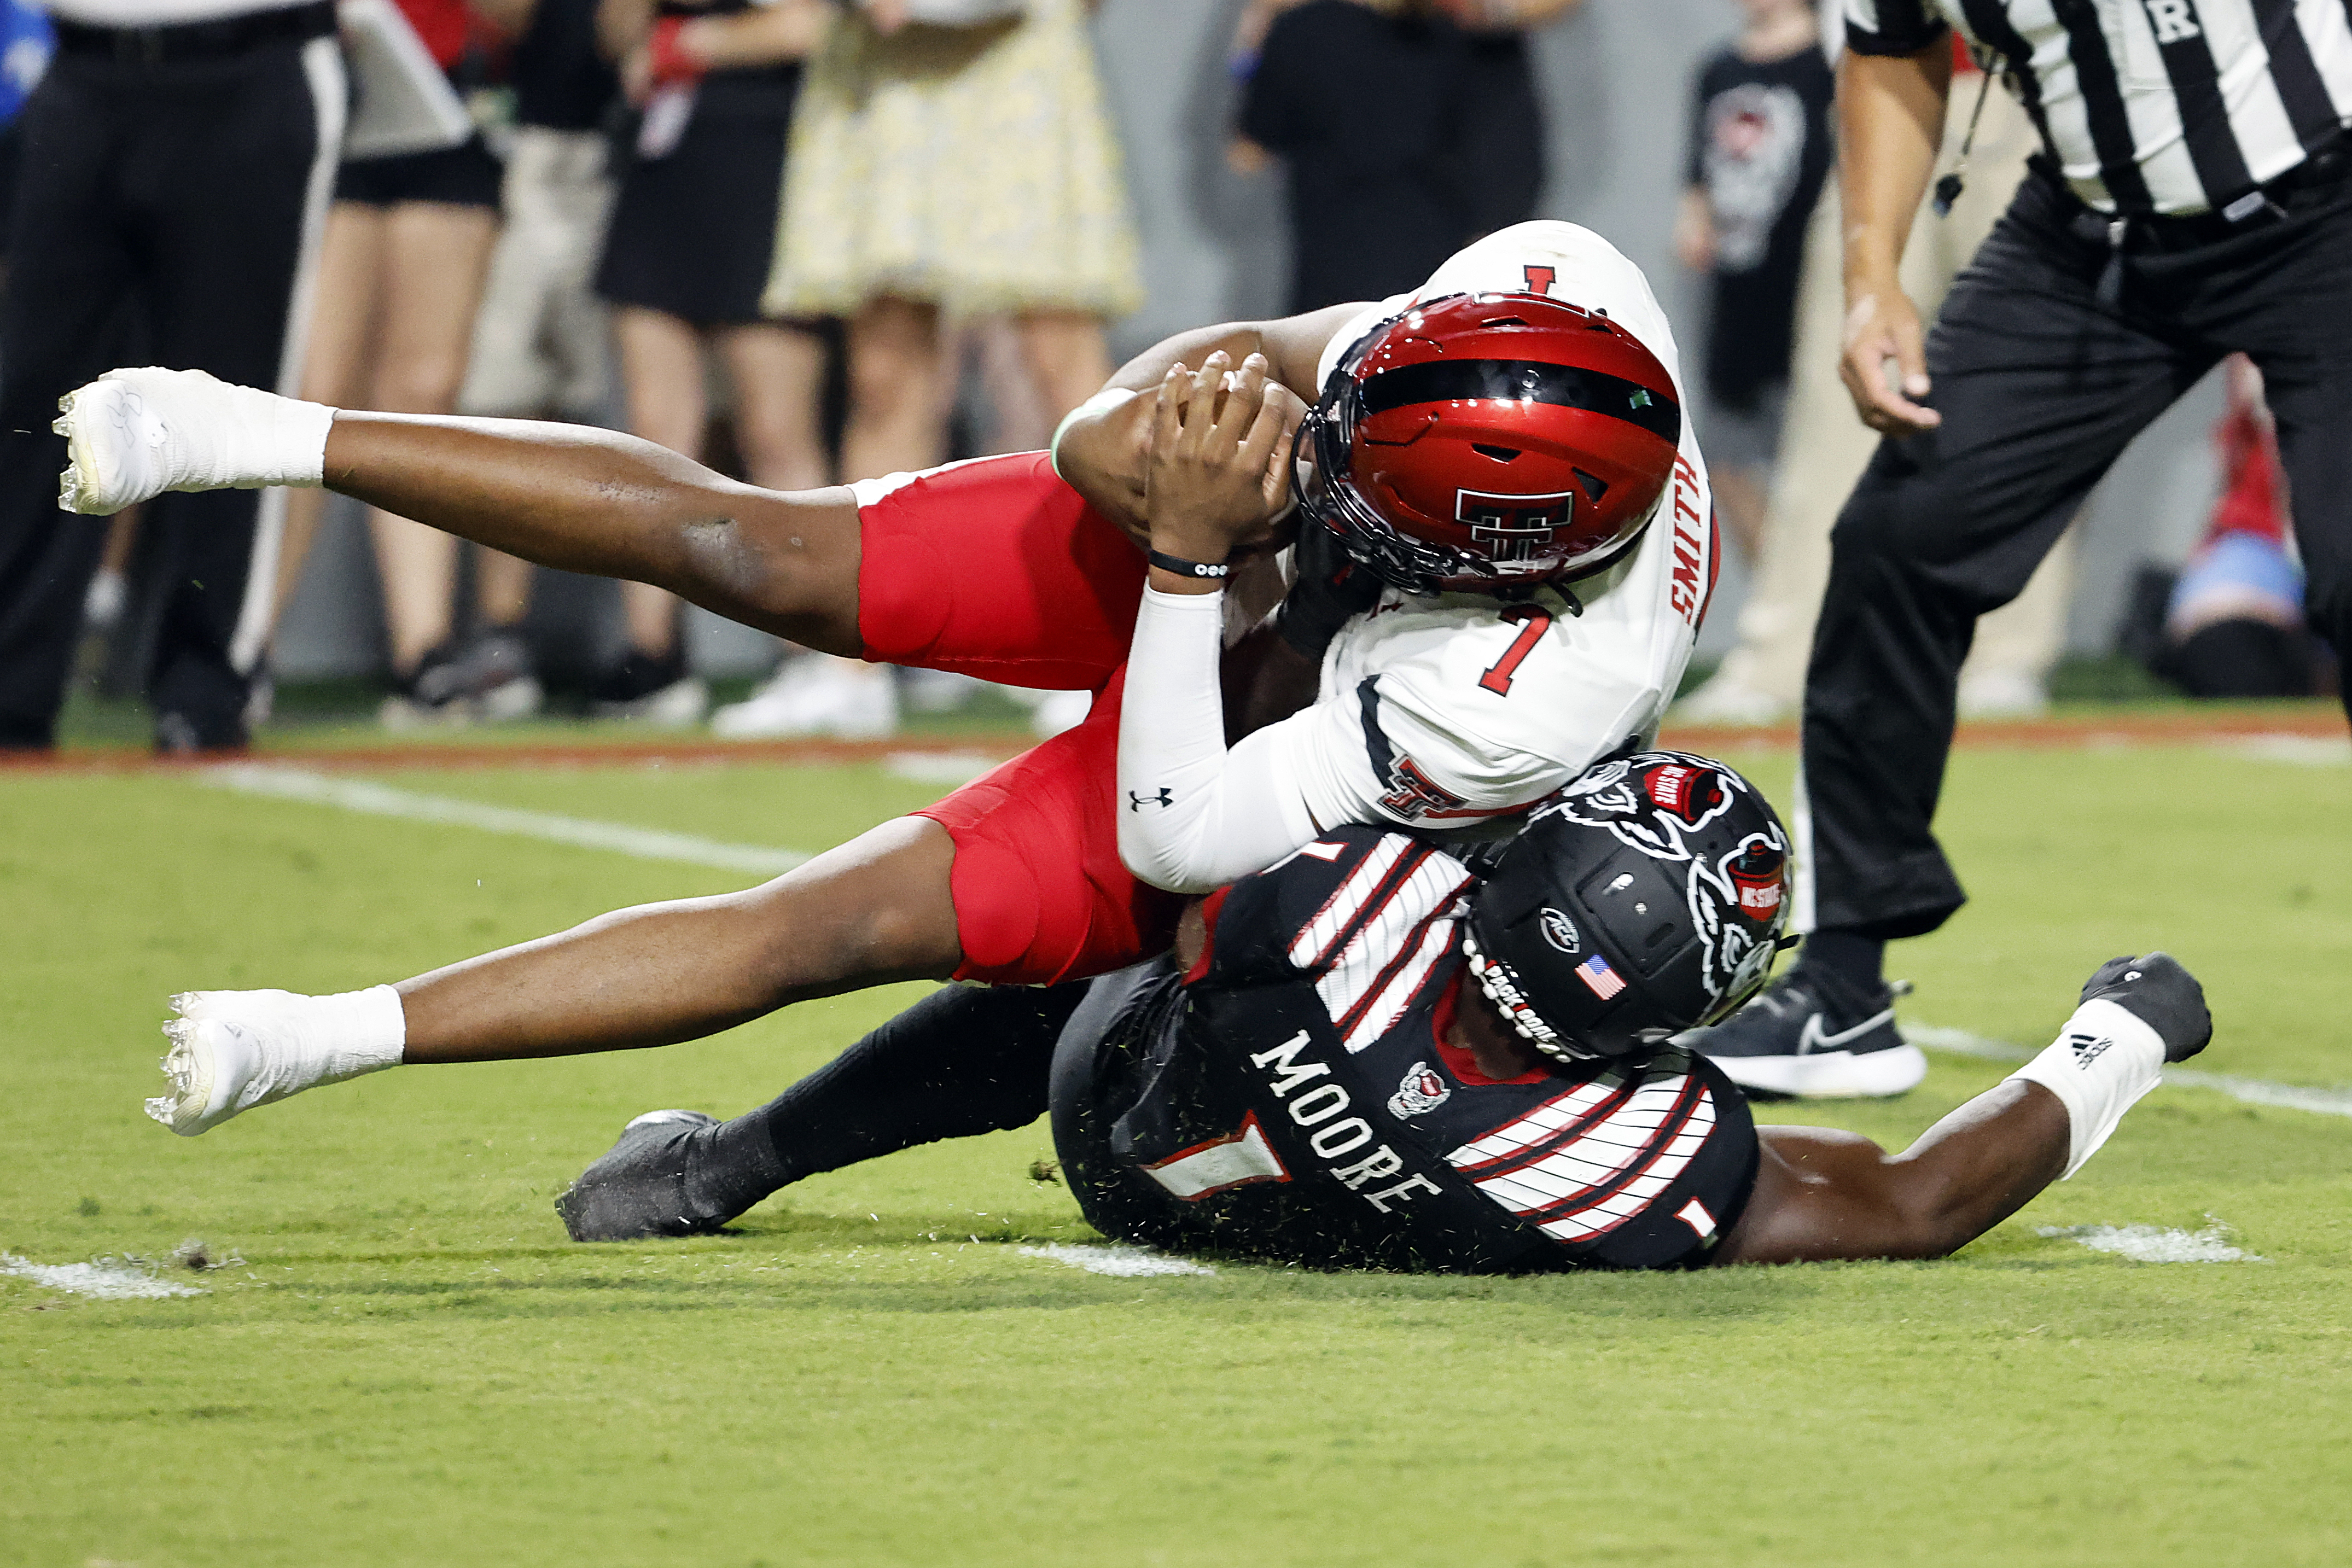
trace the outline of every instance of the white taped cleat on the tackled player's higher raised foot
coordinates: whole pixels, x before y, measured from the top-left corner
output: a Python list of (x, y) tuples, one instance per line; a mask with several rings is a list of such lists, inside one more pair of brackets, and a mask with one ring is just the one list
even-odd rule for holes
[(56, 503), (108, 517), (167, 489), (318, 484), (334, 409), (198, 369), (106, 371), (56, 400)]

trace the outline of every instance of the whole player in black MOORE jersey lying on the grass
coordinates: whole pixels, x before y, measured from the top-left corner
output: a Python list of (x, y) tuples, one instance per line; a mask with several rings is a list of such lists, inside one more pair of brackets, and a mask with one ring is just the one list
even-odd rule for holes
[(2211, 1039), (2164, 954), (1886, 1154), (1757, 1128), (1675, 1044), (1764, 978), (1788, 837), (1731, 769), (1588, 769), (1463, 858), (1343, 827), (1089, 985), (941, 990), (771, 1105), (652, 1112), (557, 1199), (576, 1239), (691, 1234), (776, 1187), (1025, 1126), (1110, 1237), (1317, 1267), (1534, 1272), (1940, 1258), (2072, 1175)]

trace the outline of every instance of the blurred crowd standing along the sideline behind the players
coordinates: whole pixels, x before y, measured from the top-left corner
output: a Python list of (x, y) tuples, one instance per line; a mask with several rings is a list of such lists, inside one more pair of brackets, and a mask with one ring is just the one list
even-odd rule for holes
[[(1559, 216), (1639, 261), (1675, 317), (1733, 541), (1684, 712), (1795, 715), (1828, 527), (1875, 442), (1835, 376), (1835, 5), (1830, 19), (1809, 0), (5, 5), (0, 381), (19, 428), (64, 390), (45, 376), (71, 357), (47, 341), (64, 327), (45, 280), (64, 266), (111, 280), (68, 240), (122, 223), (59, 195), (61, 115), (160, 113), (141, 61), (233, 61), (287, 42), (292, 16), (318, 16), (303, 49), (339, 40), (353, 85), (313, 127), (334, 139), (332, 202), (301, 240), (285, 343), (270, 339), (285, 374), (242, 378), (346, 407), (626, 428), (781, 489), (1042, 447), (1117, 360), (1169, 331), (1404, 292), (1482, 233)], [(80, 68), (45, 75), (56, 63)], [(1976, 82), (1952, 94), (1947, 162), (1983, 99), (1966, 188), (1950, 214), (1922, 214), (1905, 261), (1922, 308), (2032, 146), (2013, 101)], [(270, 129), (254, 136), (240, 158), (266, 160)], [(92, 141), (106, 139), (75, 122), (73, 146)], [(136, 153), (89, 153), (111, 155), (136, 176)], [(299, 179), (308, 141), (289, 158)], [(247, 240), (122, 226), (136, 263), (66, 313), (82, 339), (103, 324), (89, 374), (195, 362), (172, 357), (186, 331), (169, 280), (235, 273)], [(38, 456), (14, 468), (47, 461), (54, 487)], [(560, 710), (870, 738), (910, 708), (983, 701), (960, 677), (788, 649), (661, 590), (536, 571), (325, 491), (247, 501), (247, 588), (207, 609), (179, 512), (85, 538), (92, 524), (42, 510), (9, 473), (9, 745), (45, 741), (47, 665), (24, 654), (42, 637), (75, 644), (56, 658), (73, 679), (146, 693), (165, 748), (235, 745), (273, 691), (320, 686), (367, 686), (395, 729)], [(146, 510), (172, 501), (195, 498)], [(2032, 715), (2053, 689), (2324, 689), (2333, 661), (2303, 630), (2284, 508), (2258, 378), (2225, 364), (1983, 623), (1964, 715)], [(82, 543), (54, 548), (59, 529)], [(1084, 712), (1011, 696), (1040, 733)]]

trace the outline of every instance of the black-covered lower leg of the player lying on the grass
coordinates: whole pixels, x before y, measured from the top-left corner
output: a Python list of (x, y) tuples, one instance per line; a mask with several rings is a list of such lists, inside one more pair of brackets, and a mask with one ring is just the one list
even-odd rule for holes
[[(1028, 1126), (1044, 1114), (1054, 1041), (1087, 985), (943, 985), (755, 1112), (715, 1128), (776, 1180), (896, 1154), (941, 1138)], [(750, 1133), (767, 1157), (753, 1161)], [(760, 1197), (767, 1197), (762, 1192)]]

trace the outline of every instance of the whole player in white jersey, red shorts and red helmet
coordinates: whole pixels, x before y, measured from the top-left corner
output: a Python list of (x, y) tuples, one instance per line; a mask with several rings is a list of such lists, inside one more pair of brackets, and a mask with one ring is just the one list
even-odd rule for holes
[[(1479, 289), (1512, 294), (1498, 306)], [(1465, 362), (1484, 378), (1402, 397), (1416, 364), (1454, 364), (1456, 336), (1482, 343)], [(1298, 388), (1319, 390), (1308, 510), (1397, 588), (1362, 616), (1322, 581), (1294, 595), (1261, 642), (1279, 639), (1308, 686), (1263, 701), (1263, 717), (1317, 682), (1322, 701), (1228, 755), (1221, 614), (1174, 590), (1279, 538)], [(1597, 235), (1529, 223), (1411, 301), (1176, 339), (1098, 402), (1058, 442), (1068, 482), (1047, 454), (1021, 454), (781, 496), (602, 430), (336, 411), (188, 371), (115, 371), (68, 397), (73, 510), (329, 484), (823, 651), (1103, 698), (1080, 729), (760, 889), (623, 910), (339, 997), (179, 997), (172, 1091), (151, 1114), (193, 1135), (400, 1063), (670, 1044), (884, 980), (1105, 973), (1167, 947), (1178, 900), (1162, 889), (1256, 870), (1341, 820), (1491, 820), (1656, 726), (1715, 545), (1672, 336)], [(1501, 477), (1399, 468), (1388, 447), (1449, 447)], [(1138, 536), (1181, 559), (1152, 567), (1162, 592), (1143, 611)], [(1127, 729), (1150, 741), (1115, 795), (1131, 644), (1152, 701), (1129, 705)]]

